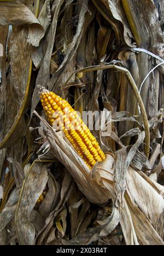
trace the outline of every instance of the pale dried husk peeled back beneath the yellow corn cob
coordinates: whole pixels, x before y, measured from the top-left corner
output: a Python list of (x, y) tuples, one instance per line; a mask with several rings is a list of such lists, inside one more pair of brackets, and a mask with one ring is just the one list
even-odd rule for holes
[[(161, 234), (160, 229), (163, 225), (163, 188), (158, 186), (156, 190), (148, 177), (144, 179), (144, 176), (128, 167), (136, 150), (134, 147), (134, 152), (131, 149), (127, 158), (126, 148), (119, 150), (117, 159), (111, 154), (106, 155), (106, 160), (94, 166), (90, 172), (62, 132), (51, 129), (46, 137), (51, 153), (65, 165), (90, 202), (105, 204), (112, 199), (120, 213), (120, 224), (127, 245), (164, 244), (161, 238), (163, 231)], [(139, 140), (143, 141), (143, 138), (141, 136)], [(136, 146), (138, 143), (140, 142)], [(45, 145), (47, 147), (47, 143)], [(44, 159), (43, 155), (41, 159)], [(118, 215), (116, 216), (118, 219)], [(144, 226), (141, 225), (141, 220)]]

